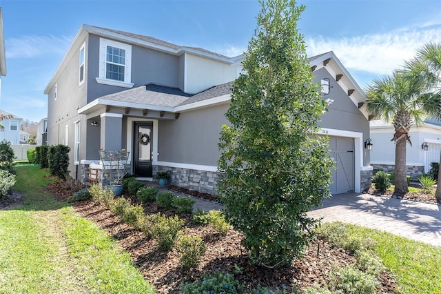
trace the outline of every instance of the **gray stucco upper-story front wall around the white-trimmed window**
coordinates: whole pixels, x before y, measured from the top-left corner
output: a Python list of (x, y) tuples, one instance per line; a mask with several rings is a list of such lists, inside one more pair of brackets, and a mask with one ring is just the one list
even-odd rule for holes
[[(99, 40), (89, 35), (88, 48), (88, 103), (104, 95), (127, 90), (119, 86), (99, 84)], [(178, 88), (179, 57), (132, 45), (131, 82), (134, 88), (145, 84), (158, 84)]]

